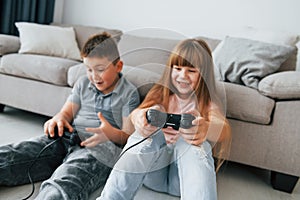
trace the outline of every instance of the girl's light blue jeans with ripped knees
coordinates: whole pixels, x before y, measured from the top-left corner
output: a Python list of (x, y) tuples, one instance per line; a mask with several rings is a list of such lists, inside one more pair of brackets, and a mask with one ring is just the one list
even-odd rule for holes
[[(124, 150), (141, 139), (135, 132)], [(175, 145), (168, 146), (160, 131), (120, 158), (97, 200), (134, 199), (142, 184), (184, 200), (216, 200), (216, 174), (210, 144), (204, 142), (194, 146), (180, 138)]]

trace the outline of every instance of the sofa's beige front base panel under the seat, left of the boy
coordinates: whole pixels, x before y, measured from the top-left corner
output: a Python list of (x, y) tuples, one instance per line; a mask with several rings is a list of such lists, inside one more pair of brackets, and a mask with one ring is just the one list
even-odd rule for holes
[(0, 73), (0, 102), (34, 113), (54, 116), (71, 91), (70, 87)]

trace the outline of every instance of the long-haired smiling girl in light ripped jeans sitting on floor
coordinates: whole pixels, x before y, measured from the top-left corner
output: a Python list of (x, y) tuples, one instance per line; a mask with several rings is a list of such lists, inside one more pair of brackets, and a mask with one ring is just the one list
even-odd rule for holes
[[(151, 126), (149, 109), (190, 113), (193, 127)], [(133, 199), (142, 184), (182, 199), (217, 199), (215, 171), (228, 156), (231, 134), (216, 95), (212, 54), (203, 40), (186, 39), (175, 47), (131, 121), (136, 131), (98, 199)]]

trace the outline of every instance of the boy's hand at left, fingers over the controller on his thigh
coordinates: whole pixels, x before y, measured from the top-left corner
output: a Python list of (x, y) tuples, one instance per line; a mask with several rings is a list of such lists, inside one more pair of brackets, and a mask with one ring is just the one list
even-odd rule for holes
[(73, 131), (73, 127), (71, 124), (65, 120), (63, 117), (57, 115), (53, 118), (49, 119), (44, 124), (44, 133), (46, 135), (50, 135), (51, 137), (54, 137), (54, 129), (57, 127), (58, 129), (58, 136), (61, 137), (64, 134), (64, 128), (67, 128), (69, 132)]

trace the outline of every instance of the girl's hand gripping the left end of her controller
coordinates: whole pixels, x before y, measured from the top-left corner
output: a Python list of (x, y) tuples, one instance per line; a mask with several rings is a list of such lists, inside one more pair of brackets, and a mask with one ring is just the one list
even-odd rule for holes
[(155, 105), (150, 108), (138, 108), (131, 113), (131, 121), (134, 124), (135, 130), (137, 130), (138, 133), (141, 134), (143, 137), (148, 137), (158, 129), (155, 126), (150, 125), (147, 121), (146, 113), (149, 109), (156, 109), (162, 111), (160, 106)]

